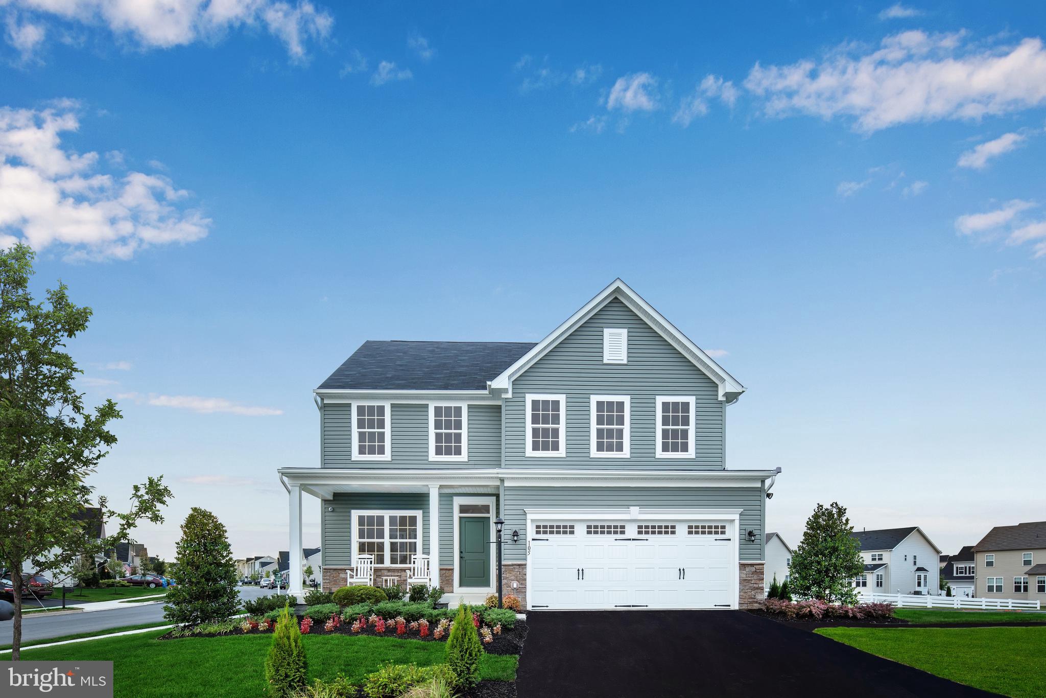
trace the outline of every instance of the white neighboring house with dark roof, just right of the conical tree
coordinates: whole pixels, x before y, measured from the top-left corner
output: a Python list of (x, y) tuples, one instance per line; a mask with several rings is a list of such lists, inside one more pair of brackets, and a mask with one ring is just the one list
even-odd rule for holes
[(940, 594), (940, 548), (918, 526), (860, 531), (864, 573), (854, 580), (859, 592)]

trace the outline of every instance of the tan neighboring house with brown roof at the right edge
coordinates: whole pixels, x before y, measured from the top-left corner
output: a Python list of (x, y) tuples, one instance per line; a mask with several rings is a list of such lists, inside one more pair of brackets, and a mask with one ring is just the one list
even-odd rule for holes
[(1046, 602), (1046, 521), (996, 526), (974, 556), (978, 596)]

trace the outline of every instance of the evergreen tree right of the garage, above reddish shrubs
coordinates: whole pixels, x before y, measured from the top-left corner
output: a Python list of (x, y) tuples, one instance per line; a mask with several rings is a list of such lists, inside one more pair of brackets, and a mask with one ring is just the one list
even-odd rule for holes
[(789, 591), (800, 599), (848, 606), (857, 603), (851, 581), (864, 573), (864, 560), (846, 509), (839, 502), (818, 504), (806, 519), (789, 573)]

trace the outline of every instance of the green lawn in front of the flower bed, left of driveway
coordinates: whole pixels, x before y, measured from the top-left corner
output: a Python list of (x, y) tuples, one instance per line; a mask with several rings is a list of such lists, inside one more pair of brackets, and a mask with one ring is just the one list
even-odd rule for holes
[[(115, 660), (115, 696), (256, 698), (265, 694), (265, 657), (272, 644), (271, 634), (156, 639), (164, 632), (29, 649), (22, 658)], [(444, 661), (446, 652), (446, 643), (367, 635), (303, 635), (301, 640), (310, 680), (332, 679), (340, 672), (350, 681), (361, 681), (386, 661), (436, 665)], [(515, 655), (484, 654), (480, 675), (484, 679), (514, 680), (518, 660)]]

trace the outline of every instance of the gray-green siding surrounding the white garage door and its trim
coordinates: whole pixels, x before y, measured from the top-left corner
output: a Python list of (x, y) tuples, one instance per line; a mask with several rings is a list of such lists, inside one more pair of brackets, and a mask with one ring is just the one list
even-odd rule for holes
[[(505, 488), (502, 518), (506, 532), (504, 559), (526, 561), (525, 509), (564, 509), (600, 506), (662, 506), (670, 509), (741, 509), (741, 560), (763, 560), (764, 525), (759, 488)], [(440, 515), (441, 516), (441, 515)], [(520, 532), (520, 541), (511, 542), (511, 532)], [(755, 542), (745, 534), (755, 532)], [(440, 543), (441, 545), (441, 543)]]

